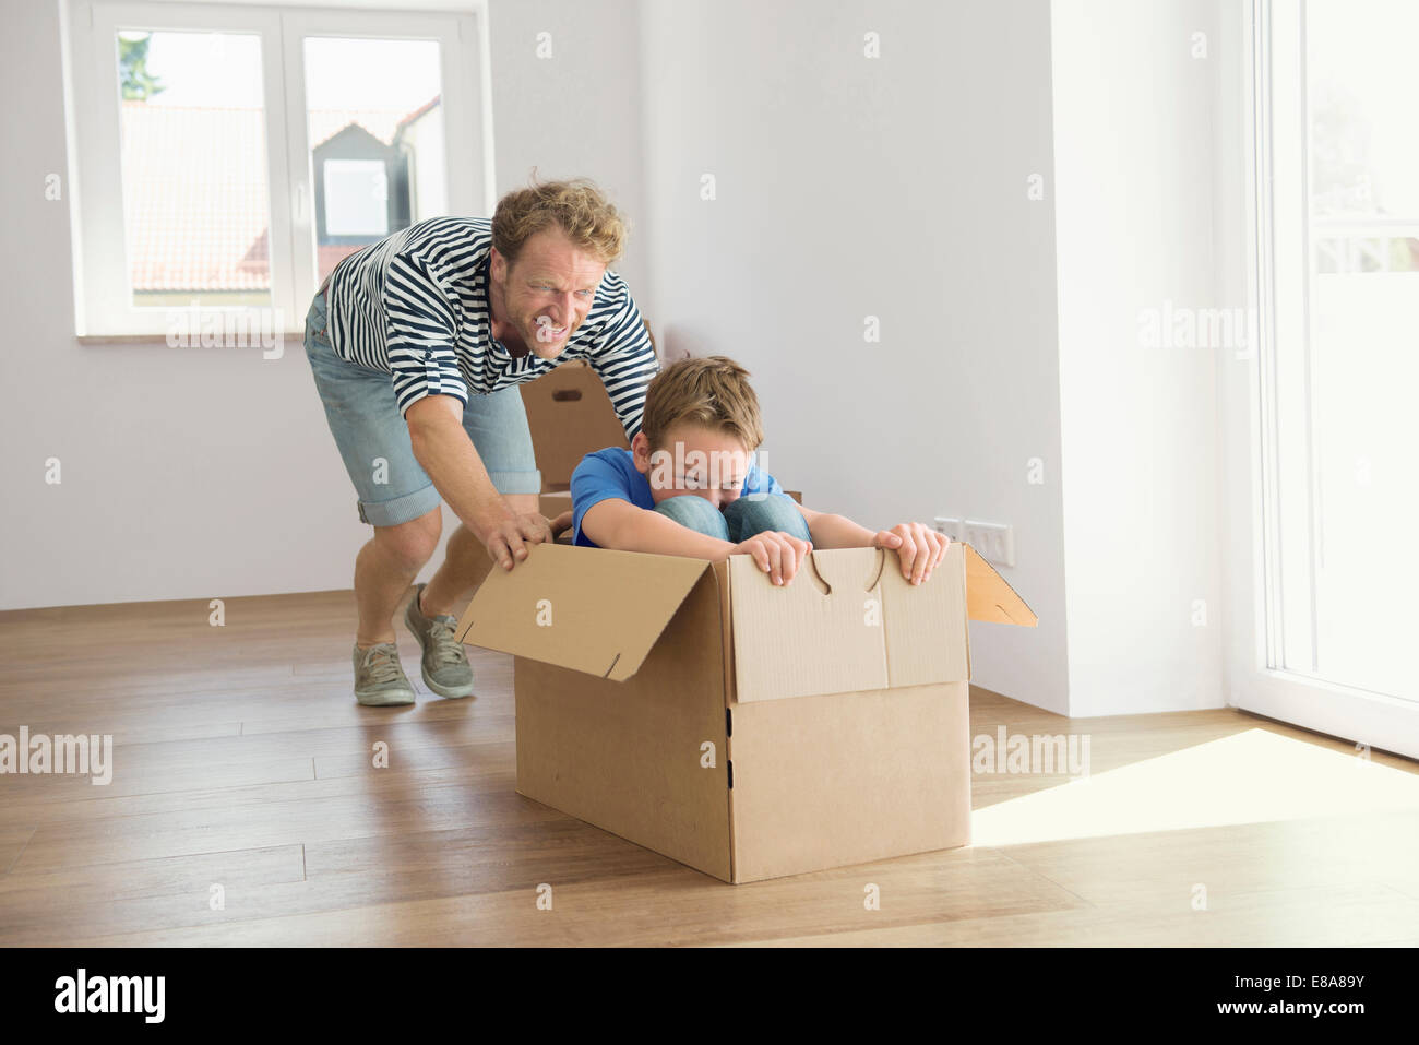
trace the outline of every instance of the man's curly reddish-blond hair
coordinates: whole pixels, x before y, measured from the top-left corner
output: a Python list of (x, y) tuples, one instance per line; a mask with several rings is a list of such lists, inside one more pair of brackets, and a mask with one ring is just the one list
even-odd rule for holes
[(514, 264), (528, 239), (553, 226), (566, 233), (578, 250), (607, 266), (626, 248), (626, 219), (585, 177), (534, 182), (526, 189), (509, 192), (492, 212), (492, 246)]

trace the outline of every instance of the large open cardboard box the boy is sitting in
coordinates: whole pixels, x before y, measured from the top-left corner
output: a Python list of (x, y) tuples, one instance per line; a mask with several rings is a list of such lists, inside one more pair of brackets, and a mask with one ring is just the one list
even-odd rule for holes
[(1036, 622), (962, 544), (920, 586), (847, 548), (782, 588), (543, 544), (457, 635), (517, 657), (519, 794), (741, 883), (969, 842), (968, 618)]

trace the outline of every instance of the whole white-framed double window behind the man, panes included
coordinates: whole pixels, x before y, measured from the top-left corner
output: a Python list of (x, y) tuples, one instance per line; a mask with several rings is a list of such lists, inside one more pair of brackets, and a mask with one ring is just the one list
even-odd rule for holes
[(68, 3), (79, 335), (299, 331), (341, 258), (491, 213), (481, 6)]

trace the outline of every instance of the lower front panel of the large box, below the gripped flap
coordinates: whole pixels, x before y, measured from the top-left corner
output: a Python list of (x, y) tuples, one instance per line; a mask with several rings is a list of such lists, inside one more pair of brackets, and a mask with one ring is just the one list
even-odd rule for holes
[(734, 880), (971, 841), (968, 683), (734, 707)]

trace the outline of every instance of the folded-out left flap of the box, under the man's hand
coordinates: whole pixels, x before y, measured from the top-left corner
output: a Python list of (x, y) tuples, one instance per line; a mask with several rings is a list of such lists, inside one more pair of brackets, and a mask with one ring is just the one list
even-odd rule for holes
[(680, 555), (536, 544), (511, 572), (492, 568), (457, 638), (624, 682), (708, 568)]

